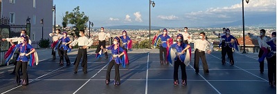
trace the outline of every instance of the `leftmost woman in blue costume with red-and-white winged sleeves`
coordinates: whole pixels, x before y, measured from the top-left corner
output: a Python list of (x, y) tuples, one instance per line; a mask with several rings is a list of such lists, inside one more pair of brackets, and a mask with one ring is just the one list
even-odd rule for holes
[[(26, 35), (22, 35), (22, 37), (24, 38), (24, 41), (21, 44), (13, 44), (12, 42), (10, 42), (10, 44), (12, 44), (12, 47), (9, 48), (8, 52), (5, 55), (5, 59), (6, 60), (6, 64), (8, 62), (10, 62), (10, 59), (12, 59), (15, 50), (17, 50), (17, 48), (19, 49), (19, 57), (17, 58), (17, 66), (16, 66), (16, 83), (17, 85), (20, 85), (21, 82), (21, 78), (19, 75), (19, 68), (22, 66), (22, 72), (23, 72), (23, 77), (22, 77), (22, 85), (26, 86), (28, 85), (28, 73), (27, 73), (27, 64), (28, 62), (30, 63), (30, 66), (33, 66), (33, 64), (36, 62), (36, 64), (38, 64), (38, 56), (37, 53), (35, 52), (35, 48), (33, 48), (32, 46), (30, 46), (30, 44), (28, 44), (27, 40), (28, 38), (26, 37)], [(28, 61), (28, 55), (30, 55), (30, 60)]]

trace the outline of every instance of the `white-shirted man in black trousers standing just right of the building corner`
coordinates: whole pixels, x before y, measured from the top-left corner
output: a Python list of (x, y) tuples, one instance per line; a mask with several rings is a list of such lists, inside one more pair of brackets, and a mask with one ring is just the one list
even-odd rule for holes
[(57, 32), (57, 34), (53, 34), (53, 33), (49, 34), (50, 37), (53, 37), (52, 38), (53, 43), (51, 44), (51, 48), (52, 48), (51, 55), (53, 55), (53, 59), (55, 59), (55, 57), (56, 57), (56, 50), (57, 50), (59, 57), (61, 57), (63, 54), (63, 52), (60, 50), (60, 46), (61, 46), (62, 42), (59, 41), (63, 36), (60, 35), (60, 30), (57, 30), (56, 32)]

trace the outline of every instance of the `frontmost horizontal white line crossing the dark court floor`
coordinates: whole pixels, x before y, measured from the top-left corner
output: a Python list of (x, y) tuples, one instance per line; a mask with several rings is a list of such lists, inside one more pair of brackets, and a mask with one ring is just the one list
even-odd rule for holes
[[(0, 81), (13, 81), (15, 79), (0, 79)], [(106, 79), (29, 79), (32, 81), (105, 81)], [(120, 79), (122, 81), (146, 81), (146, 79)], [(148, 81), (173, 81), (173, 79), (148, 79)], [(188, 79), (190, 82), (206, 82), (206, 80)], [(266, 82), (264, 80), (207, 80), (208, 82)]]

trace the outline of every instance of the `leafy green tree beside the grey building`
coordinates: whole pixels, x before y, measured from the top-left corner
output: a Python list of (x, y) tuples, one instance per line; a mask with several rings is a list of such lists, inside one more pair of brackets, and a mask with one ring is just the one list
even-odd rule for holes
[(73, 12), (66, 11), (63, 17), (62, 26), (66, 27), (68, 23), (75, 25), (78, 30), (82, 30), (87, 27), (86, 23), (89, 21), (89, 17), (84, 15), (84, 12), (80, 12), (80, 7), (77, 6), (73, 9)]

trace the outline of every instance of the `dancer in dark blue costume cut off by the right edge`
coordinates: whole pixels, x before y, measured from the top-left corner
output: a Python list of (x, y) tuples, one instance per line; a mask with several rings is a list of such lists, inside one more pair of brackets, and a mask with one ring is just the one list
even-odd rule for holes
[(267, 68), (269, 85), (276, 86), (276, 32), (272, 32), (272, 36), (272, 39), (267, 42), (267, 44), (271, 47), (271, 50), (267, 55)]

